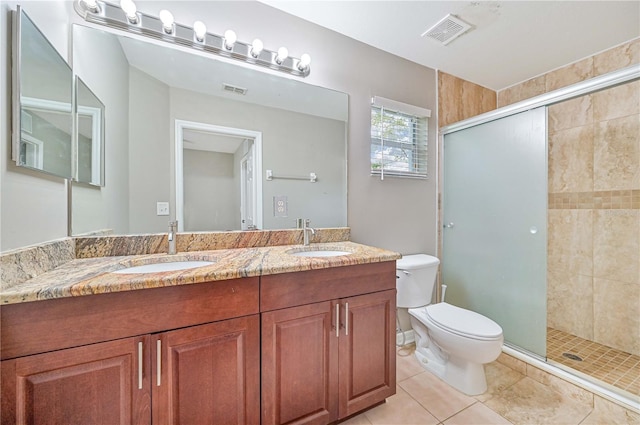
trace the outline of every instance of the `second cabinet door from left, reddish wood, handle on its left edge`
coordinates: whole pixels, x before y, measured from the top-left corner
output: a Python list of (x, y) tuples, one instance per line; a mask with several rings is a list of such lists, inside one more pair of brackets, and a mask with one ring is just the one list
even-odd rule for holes
[(152, 335), (153, 422), (260, 422), (260, 317)]

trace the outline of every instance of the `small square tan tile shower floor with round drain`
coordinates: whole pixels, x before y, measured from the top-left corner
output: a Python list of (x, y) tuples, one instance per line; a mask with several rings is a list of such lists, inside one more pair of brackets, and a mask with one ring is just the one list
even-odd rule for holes
[(547, 358), (640, 395), (640, 356), (547, 328)]

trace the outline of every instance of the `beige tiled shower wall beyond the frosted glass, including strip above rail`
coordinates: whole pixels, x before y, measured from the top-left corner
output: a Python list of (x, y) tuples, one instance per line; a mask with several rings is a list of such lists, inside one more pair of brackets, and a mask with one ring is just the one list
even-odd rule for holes
[[(499, 106), (640, 63), (640, 40), (498, 93)], [(640, 354), (640, 81), (549, 108), (548, 325)]]

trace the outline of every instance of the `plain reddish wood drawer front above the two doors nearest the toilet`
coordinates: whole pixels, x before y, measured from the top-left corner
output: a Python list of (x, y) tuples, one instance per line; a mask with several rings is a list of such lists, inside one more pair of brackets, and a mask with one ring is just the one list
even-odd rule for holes
[(262, 276), (260, 311), (395, 289), (396, 262)]

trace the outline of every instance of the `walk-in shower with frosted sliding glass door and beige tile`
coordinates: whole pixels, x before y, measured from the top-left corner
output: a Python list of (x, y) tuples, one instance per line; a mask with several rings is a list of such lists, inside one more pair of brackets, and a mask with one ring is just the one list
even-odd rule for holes
[(637, 406), (640, 65), (441, 133), (448, 302)]

